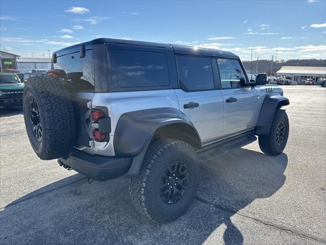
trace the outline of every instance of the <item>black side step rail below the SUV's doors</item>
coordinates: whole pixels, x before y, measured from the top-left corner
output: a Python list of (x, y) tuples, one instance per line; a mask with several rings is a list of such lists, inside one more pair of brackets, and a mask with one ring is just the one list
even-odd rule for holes
[(205, 149), (201, 149), (197, 152), (198, 157), (200, 161), (209, 161), (235, 149), (241, 148), (244, 145), (250, 144), (256, 140), (257, 137), (254, 134), (244, 135), (231, 141), (221, 142), (213, 147), (210, 146), (209, 150), (207, 151), (205, 151)]

